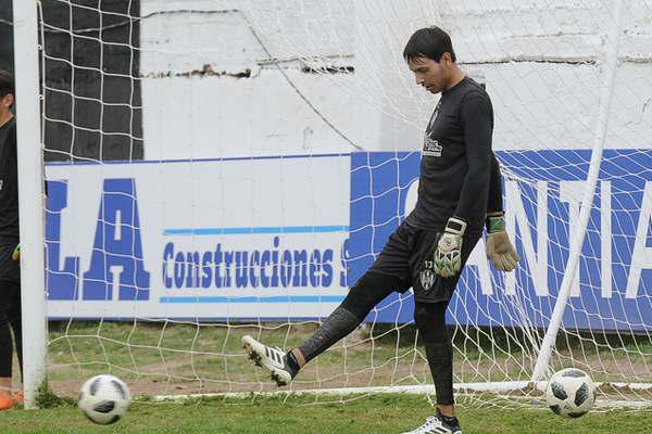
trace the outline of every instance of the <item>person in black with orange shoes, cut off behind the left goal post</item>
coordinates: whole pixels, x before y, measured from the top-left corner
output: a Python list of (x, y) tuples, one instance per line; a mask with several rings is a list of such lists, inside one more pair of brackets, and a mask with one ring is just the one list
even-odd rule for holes
[(18, 247), (18, 184), (13, 77), (0, 69), (0, 410), (22, 401), (11, 393), (13, 344), (23, 366), (21, 266)]

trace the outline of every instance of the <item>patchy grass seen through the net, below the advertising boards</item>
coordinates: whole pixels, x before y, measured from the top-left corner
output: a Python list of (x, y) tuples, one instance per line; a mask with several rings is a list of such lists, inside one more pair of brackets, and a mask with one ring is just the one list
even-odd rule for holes
[[(291, 347), (314, 330), (314, 323), (52, 323), (48, 376), (54, 392), (64, 396), (76, 396), (84, 380), (106, 372), (125, 380), (135, 395), (275, 391), (246, 359), (242, 335)], [(455, 382), (529, 380), (536, 353), (515, 332), (465, 333), (456, 333)], [(592, 339), (561, 339), (554, 369), (586, 367), (595, 381), (652, 382), (647, 361), (652, 355), (649, 341), (606, 345)], [(377, 324), (355, 331), (311, 362), (292, 388), (429, 383), (429, 369), (414, 328)]]

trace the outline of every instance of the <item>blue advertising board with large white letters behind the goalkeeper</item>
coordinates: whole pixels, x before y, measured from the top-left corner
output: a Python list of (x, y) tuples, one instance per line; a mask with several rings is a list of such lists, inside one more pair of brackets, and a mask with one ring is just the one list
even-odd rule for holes
[[(449, 321), (544, 327), (554, 308), (577, 227), (589, 151), (499, 152), (507, 231), (523, 260), (499, 273), (481, 240), (451, 302)], [(413, 208), (421, 155), (359, 153), (351, 159), (352, 284)], [(564, 324), (579, 329), (652, 329), (652, 150), (607, 150)], [(412, 320), (413, 302), (390, 296), (369, 320)]]

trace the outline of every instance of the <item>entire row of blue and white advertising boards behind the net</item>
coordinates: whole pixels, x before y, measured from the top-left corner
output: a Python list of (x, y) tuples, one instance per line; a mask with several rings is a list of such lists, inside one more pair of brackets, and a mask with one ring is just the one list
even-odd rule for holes
[[(523, 260), (496, 272), (478, 243), (450, 321), (547, 326), (590, 152), (499, 152)], [(418, 152), (50, 164), (52, 318), (326, 317), (414, 206)], [(652, 329), (652, 151), (607, 150), (564, 322)], [(412, 320), (410, 294), (369, 321)]]

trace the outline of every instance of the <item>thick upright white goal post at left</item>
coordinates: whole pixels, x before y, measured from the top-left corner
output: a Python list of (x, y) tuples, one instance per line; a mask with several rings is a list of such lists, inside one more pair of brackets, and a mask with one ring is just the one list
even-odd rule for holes
[(46, 379), (47, 309), (45, 282), (43, 145), (39, 91), (39, 38), (36, 1), (14, 1), (16, 140), (23, 306), (23, 388), (25, 408), (36, 406)]

